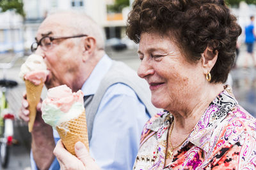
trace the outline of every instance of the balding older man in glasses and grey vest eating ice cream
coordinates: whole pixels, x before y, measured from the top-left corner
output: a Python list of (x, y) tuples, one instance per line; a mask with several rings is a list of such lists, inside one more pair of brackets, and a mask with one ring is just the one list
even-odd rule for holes
[[(132, 169), (143, 125), (156, 110), (147, 83), (106, 55), (99, 25), (82, 13), (55, 13), (40, 25), (31, 50), (47, 64), (47, 89), (66, 84), (84, 92), (90, 154), (100, 168)], [(52, 154), (60, 138), (42, 120), (40, 104), (31, 132), (31, 164), (33, 169), (60, 169)], [(24, 96), (20, 118), (28, 122), (28, 115)]]

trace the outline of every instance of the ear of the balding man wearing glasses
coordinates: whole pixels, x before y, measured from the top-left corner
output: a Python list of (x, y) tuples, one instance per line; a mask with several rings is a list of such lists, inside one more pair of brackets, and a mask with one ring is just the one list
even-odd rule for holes
[[(95, 52), (96, 49), (96, 39), (93, 38), (92, 36), (88, 36), (83, 39), (83, 47), (84, 47), (84, 59), (87, 60), (87, 58), (92, 55), (92, 53)], [(87, 56), (87, 57), (86, 57)]]

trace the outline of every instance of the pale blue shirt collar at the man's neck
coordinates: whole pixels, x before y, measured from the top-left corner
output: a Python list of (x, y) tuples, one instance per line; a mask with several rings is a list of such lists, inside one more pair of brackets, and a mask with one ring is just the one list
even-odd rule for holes
[(106, 54), (102, 57), (102, 59), (99, 60), (98, 64), (94, 67), (92, 73), (84, 82), (81, 88), (84, 96), (90, 96), (95, 94), (100, 85), (100, 81), (108, 72), (109, 68), (112, 65), (112, 62), (113, 60), (111, 60)]

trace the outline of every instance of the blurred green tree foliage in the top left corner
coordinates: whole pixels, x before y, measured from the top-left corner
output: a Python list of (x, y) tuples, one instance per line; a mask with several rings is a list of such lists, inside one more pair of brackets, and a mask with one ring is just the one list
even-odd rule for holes
[(0, 8), (3, 12), (7, 10), (15, 10), (15, 12), (23, 18), (25, 17), (23, 2), (21, 0), (0, 0)]

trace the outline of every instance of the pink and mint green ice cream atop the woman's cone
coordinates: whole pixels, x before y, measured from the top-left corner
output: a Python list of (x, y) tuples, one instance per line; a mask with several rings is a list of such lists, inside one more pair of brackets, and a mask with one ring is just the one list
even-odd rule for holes
[(72, 92), (67, 85), (60, 85), (48, 90), (42, 103), (42, 118), (53, 128), (62, 122), (79, 117), (84, 111), (83, 92)]

